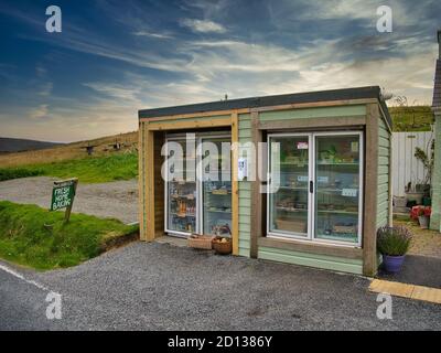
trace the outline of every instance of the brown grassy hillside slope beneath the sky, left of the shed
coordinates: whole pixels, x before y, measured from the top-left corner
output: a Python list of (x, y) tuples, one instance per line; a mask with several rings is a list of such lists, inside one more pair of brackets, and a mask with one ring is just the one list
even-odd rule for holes
[(138, 132), (119, 133), (115, 136), (107, 136), (88, 141), (78, 141), (43, 150), (22, 151), (14, 153), (0, 154), (0, 168), (4, 167), (21, 167), (41, 163), (53, 163), (73, 159), (86, 158), (86, 147), (94, 146), (93, 156), (111, 156), (115, 154), (115, 142), (121, 145), (117, 153), (127, 151), (137, 151)]

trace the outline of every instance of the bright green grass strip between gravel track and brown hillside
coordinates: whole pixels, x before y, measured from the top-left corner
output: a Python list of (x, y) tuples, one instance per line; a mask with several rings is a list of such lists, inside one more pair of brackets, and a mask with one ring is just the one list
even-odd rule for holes
[(138, 175), (138, 154), (118, 153), (101, 157), (66, 160), (22, 168), (0, 168), (0, 181), (47, 175), (60, 179), (78, 178), (83, 183), (129, 180)]

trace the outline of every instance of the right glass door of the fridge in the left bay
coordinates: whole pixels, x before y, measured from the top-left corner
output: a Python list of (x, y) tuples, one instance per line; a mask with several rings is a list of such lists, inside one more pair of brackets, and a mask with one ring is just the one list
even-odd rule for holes
[(232, 236), (230, 138), (202, 138), (202, 232)]

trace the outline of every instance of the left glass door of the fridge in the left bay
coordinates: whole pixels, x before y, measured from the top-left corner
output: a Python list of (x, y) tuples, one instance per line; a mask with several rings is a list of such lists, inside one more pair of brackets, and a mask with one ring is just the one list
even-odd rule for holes
[(195, 161), (195, 151), (186, 150), (185, 139), (166, 142), (165, 232), (186, 237), (197, 232), (196, 170), (195, 163), (187, 163), (187, 160)]

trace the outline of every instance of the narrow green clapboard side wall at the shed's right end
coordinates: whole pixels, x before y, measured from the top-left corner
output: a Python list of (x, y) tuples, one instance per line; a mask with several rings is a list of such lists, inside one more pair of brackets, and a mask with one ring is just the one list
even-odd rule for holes
[(390, 133), (383, 119), (378, 124), (378, 185), (377, 185), (377, 227), (389, 221), (389, 163)]

